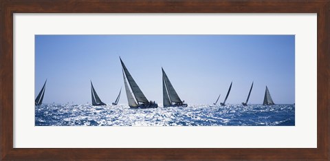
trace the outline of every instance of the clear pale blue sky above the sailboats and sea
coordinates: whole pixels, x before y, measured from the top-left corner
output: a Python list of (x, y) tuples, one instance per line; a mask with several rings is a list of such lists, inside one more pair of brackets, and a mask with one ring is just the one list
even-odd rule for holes
[[(91, 103), (90, 80), (104, 103), (124, 89), (119, 56), (148, 100), (162, 104), (162, 67), (188, 104), (294, 103), (294, 35), (36, 35), (35, 92), (44, 103)], [(119, 103), (127, 104), (122, 90)]]

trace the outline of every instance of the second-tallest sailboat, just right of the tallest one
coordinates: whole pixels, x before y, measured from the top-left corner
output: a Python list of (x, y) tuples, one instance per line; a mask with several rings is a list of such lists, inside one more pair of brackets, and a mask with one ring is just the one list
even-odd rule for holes
[[(175, 89), (170, 83), (170, 80), (168, 79), (166, 73), (164, 72), (164, 69), (162, 67), (163, 72), (163, 105), (164, 107), (187, 107), (188, 104), (185, 104), (184, 101), (182, 101), (179, 96), (177, 95), (177, 92), (175, 92)], [(174, 104), (173, 104), (174, 103)]]

